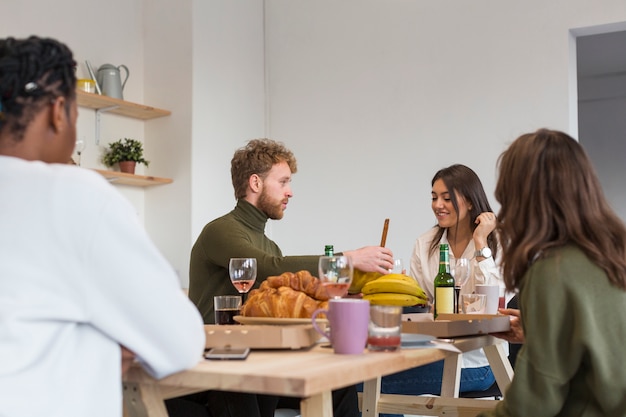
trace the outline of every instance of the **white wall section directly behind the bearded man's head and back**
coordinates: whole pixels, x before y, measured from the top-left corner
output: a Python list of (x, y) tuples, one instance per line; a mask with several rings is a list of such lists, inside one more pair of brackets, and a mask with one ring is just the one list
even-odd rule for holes
[(235, 205), (235, 149), (266, 134), (263, 2), (194, 0), (193, 54), (191, 244)]

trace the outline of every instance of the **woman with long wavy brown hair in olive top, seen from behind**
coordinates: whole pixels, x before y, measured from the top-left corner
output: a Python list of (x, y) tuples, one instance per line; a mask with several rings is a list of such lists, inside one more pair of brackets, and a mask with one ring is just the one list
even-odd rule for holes
[(626, 228), (582, 146), (522, 135), (501, 155), (497, 230), (525, 343), (496, 416), (626, 413)]

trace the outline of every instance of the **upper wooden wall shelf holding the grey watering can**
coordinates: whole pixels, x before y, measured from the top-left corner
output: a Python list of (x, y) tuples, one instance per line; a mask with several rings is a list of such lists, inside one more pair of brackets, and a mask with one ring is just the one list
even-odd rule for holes
[(169, 110), (131, 103), (130, 101), (102, 96), (100, 94), (86, 93), (82, 90), (76, 90), (76, 98), (78, 100), (78, 105), (81, 107), (106, 111), (135, 119), (150, 120), (172, 114)]

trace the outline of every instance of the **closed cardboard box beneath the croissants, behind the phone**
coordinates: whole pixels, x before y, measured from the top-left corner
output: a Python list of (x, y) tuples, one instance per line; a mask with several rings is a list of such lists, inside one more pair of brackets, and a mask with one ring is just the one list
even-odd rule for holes
[(249, 347), (251, 349), (302, 349), (320, 338), (311, 324), (296, 325), (204, 325), (206, 347)]

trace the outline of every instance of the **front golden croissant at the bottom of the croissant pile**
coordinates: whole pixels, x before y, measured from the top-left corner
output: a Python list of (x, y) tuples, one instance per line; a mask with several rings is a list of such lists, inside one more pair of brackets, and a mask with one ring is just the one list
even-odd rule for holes
[[(250, 292), (241, 314), (249, 317), (310, 318), (318, 308), (328, 308), (328, 302), (314, 300), (291, 287), (266, 286)], [(323, 314), (319, 316), (325, 317)]]

